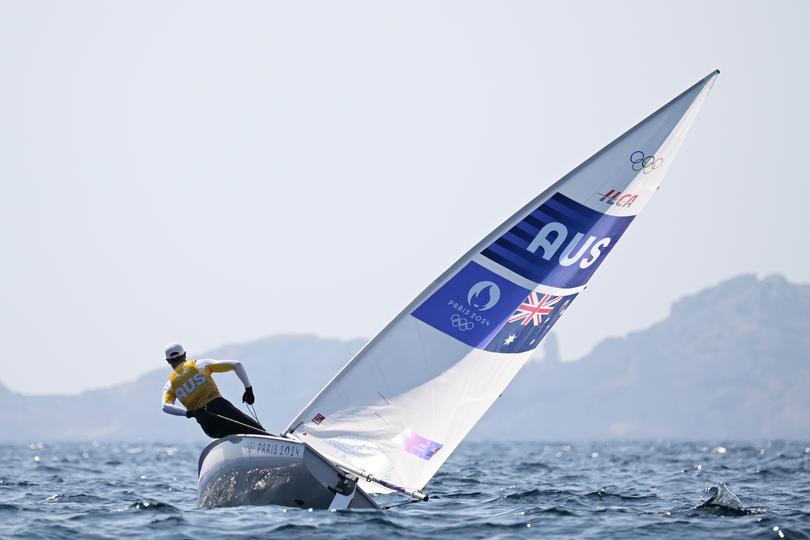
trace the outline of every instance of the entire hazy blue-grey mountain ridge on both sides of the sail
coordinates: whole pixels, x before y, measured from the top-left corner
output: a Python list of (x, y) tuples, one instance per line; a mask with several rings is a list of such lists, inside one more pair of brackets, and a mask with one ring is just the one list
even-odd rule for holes
[[(744, 274), (673, 303), (664, 319), (560, 362), (556, 339), (518, 374), (474, 438), (802, 437), (810, 433), (810, 285)], [(285, 427), (365, 340), (277, 335), (200, 357), (248, 366), (260, 418)], [(201, 438), (159, 410), (168, 368), (73, 396), (0, 383), (3, 440)], [(283, 381), (280, 384), (279, 381)], [(220, 376), (238, 399), (235, 377)], [(553, 414), (549, 414), (553, 413)], [(146, 436), (146, 434), (149, 434)]]

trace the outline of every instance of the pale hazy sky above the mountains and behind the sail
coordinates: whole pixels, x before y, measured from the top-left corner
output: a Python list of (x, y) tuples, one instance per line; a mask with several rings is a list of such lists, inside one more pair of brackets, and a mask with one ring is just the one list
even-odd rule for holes
[(575, 359), (741, 273), (810, 282), (810, 3), (0, 0), (0, 383), (77, 393), (370, 337), (715, 68), (555, 327)]

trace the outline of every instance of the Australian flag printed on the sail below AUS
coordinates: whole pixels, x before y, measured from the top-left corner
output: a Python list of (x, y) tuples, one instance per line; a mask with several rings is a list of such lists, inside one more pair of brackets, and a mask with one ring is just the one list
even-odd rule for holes
[(535, 349), (576, 296), (530, 292), (484, 350), (521, 353)]

